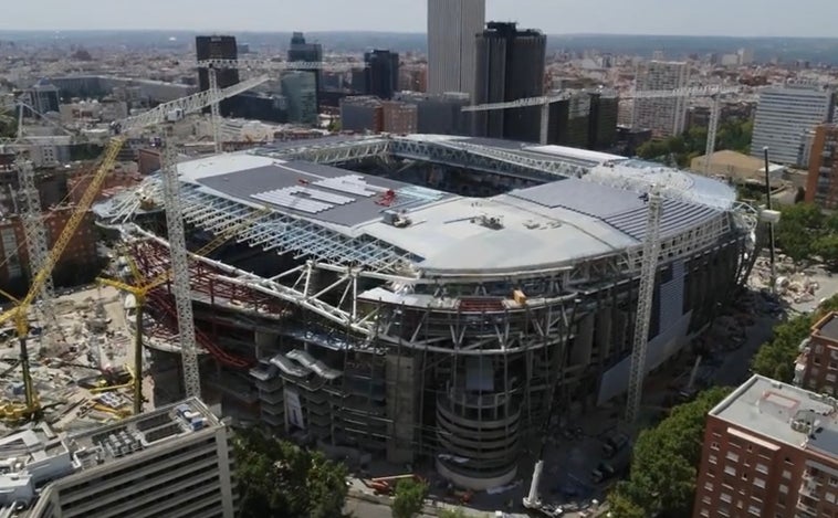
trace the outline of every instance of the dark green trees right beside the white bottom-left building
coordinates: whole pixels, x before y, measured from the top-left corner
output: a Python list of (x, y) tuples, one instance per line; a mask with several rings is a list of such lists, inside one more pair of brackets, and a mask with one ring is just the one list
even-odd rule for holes
[(256, 432), (233, 437), (240, 515), (244, 518), (343, 516), (346, 466)]

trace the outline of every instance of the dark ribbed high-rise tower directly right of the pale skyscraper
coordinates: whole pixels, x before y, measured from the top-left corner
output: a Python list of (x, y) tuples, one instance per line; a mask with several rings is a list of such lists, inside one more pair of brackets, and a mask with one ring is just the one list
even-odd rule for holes
[[(547, 38), (541, 31), (520, 31), (515, 23), (489, 22), (478, 34), (474, 104), (505, 103), (544, 93)], [(538, 106), (474, 114), (474, 135), (537, 142)]]

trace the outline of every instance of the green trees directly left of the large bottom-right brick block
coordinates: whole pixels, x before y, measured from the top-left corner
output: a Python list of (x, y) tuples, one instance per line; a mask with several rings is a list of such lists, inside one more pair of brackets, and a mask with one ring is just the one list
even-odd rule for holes
[(729, 393), (727, 388), (709, 389), (673, 408), (656, 427), (640, 432), (629, 477), (608, 495), (612, 516), (680, 518), (692, 514), (706, 414)]

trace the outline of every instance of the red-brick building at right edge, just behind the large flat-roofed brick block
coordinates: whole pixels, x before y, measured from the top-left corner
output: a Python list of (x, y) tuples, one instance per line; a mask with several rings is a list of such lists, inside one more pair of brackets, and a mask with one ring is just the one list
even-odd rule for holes
[(838, 311), (811, 327), (795, 364), (795, 384), (818, 393), (838, 394)]

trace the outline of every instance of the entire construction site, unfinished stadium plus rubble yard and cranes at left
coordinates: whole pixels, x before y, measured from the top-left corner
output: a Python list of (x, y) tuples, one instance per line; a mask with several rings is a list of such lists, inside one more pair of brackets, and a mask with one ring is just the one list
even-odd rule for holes
[[(549, 431), (624, 398), (632, 422), (647, 372), (757, 260), (760, 214), (732, 187), (616, 155), (439, 135), (228, 154), (217, 139), (201, 158), (167, 142), (264, 81), (112, 125), (51, 246), (15, 162), (32, 275), (0, 314), (10, 426), (73, 432), (198, 397), (237, 426), (468, 490), (507, 487), (535, 457), (524, 505), (542, 508)], [(161, 172), (97, 198), (147, 128)], [(53, 268), (91, 213), (109, 265), (57, 297)]]

